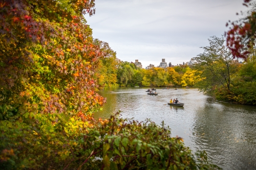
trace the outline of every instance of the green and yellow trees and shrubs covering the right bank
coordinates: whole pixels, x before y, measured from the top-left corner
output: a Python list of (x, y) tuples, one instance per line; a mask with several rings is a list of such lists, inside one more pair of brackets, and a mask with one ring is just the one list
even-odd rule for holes
[(209, 42), (204, 53), (195, 58), (198, 61), (195, 67), (202, 72), (196, 85), (203, 91), (213, 91), (219, 101), (255, 105), (254, 50), (242, 64), (230, 56), (223, 38), (212, 37)]

